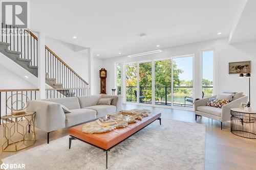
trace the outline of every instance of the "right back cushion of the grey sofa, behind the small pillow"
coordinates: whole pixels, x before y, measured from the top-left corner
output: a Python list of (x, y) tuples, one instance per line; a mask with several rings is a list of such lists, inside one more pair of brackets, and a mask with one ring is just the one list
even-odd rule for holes
[(78, 97), (80, 107), (85, 108), (89, 106), (95, 106), (98, 104), (101, 95), (88, 95), (88, 96), (80, 96)]

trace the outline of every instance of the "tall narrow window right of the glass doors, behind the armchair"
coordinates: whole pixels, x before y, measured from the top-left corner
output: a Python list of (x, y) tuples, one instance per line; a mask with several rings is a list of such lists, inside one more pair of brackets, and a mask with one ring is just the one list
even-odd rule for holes
[(202, 52), (202, 95), (204, 98), (213, 93), (214, 51)]

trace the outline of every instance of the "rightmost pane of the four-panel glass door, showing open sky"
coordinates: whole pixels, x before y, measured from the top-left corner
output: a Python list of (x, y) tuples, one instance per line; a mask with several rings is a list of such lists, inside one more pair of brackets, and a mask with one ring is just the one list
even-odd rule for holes
[(193, 106), (193, 56), (173, 60), (174, 106)]

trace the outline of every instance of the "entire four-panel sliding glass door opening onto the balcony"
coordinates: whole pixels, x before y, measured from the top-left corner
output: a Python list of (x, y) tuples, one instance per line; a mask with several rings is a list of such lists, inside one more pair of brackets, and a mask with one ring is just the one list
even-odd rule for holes
[(126, 102), (193, 106), (193, 56), (125, 64), (125, 77)]

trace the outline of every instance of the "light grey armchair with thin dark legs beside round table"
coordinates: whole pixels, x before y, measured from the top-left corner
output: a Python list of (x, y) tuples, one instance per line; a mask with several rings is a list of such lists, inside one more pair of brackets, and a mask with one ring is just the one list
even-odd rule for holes
[(222, 108), (210, 107), (206, 106), (208, 100), (210, 98), (216, 98), (217, 95), (210, 96), (209, 98), (204, 98), (198, 101), (195, 101), (195, 117), (197, 121), (197, 116), (204, 116), (208, 118), (212, 118), (221, 122), (221, 130), (222, 130), (222, 122), (230, 120), (230, 109), (237, 108), (241, 103), (247, 103), (248, 95), (243, 95), (242, 93), (236, 93), (233, 96), (233, 99), (228, 104), (222, 106)]

